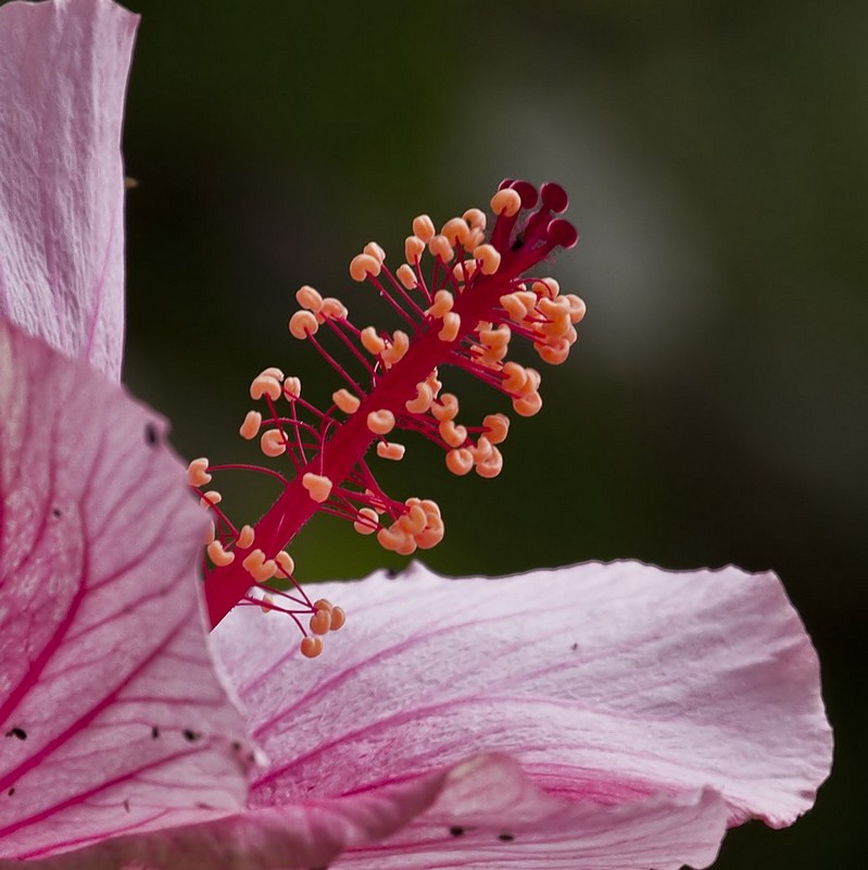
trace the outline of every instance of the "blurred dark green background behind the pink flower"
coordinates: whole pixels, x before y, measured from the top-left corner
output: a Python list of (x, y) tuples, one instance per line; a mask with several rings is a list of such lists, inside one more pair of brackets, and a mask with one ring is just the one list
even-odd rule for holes
[[(180, 452), (251, 456), (236, 433), (266, 365), (336, 387), (287, 333), (301, 284), (373, 322), (347, 275), (366, 241), (397, 263), (420, 211), (561, 182), (582, 241), (554, 274), (589, 314), (543, 412), (496, 481), (408, 440), (381, 482), (440, 501), (442, 572), (778, 571), (821, 654), (836, 766), (797, 825), (733, 832), (717, 866), (868, 866), (868, 4), (128, 5), (126, 378)], [(269, 499), (250, 483), (241, 518)], [(328, 521), (293, 554), (303, 579), (401, 563)]]

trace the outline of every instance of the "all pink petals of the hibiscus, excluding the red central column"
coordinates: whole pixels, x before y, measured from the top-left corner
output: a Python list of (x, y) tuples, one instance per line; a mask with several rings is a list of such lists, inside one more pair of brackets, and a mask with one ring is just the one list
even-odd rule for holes
[(110, 380), (135, 24), (0, 9), (0, 868), (675, 870), (807, 810), (831, 735), (770, 573), (416, 566), (318, 587), (315, 662), (257, 607), (206, 634), (202, 511)]

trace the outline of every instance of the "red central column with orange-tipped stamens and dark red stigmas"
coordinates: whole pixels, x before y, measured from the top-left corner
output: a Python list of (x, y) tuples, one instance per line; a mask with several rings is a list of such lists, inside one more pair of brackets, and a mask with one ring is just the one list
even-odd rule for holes
[[(564, 362), (584, 303), (562, 294), (554, 278), (536, 274), (556, 248), (578, 240), (573, 225), (556, 216), (568, 204), (564, 189), (544, 184), (538, 191), (528, 182), (507, 179), (490, 204), (494, 221), (488, 229), (485, 212), (475, 208), (439, 228), (427, 214), (415, 217), (404, 262), (393, 272), (376, 241), (352, 258), (350, 277), (373, 285), (403, 328), (360, 327), (340, 300), (309, 285), (295, 294), (290, 334), (312, 344), (342, 383), (334, 405), (318, 409), (302, 398), (298, 377), (265, 369), (250, 385), (260, 409), (248, 412), (239, 432), (278, 468), (212, 465), (205, 458), (190, 463), (188, 483), (213, 519), (204, 560), (212, 624), (236, 605), (255, 605), (295, 621), (303, 656), (323, 651), (323, 637), (343, 624), (343, 611), (310, 601), (285, 550), (318, 511), (347, 519), (360, 534), (403, 555), (442, 539), (438, 506), (419, 498), (395, 501), (368, 464), (368, 456), (375, 462), (404, 457), (404, 445), (392, 440), (395, 430), (422, 434), (441, 448), (455, 475), (501, 472), (496, 445), (506, 440), (508, 418), (496, 412), (481, 424), (460, 422), (458, 398), (441, 391), (440, 373), (448, 365), (462, 369), (503, 394), (518, 415), (532, 417), (542, 407), (541, 377), (507, 359), (511, 344), (526, 339), (544, 362)], [(238, 529), (221, 494), (205, 490), (215, 472), (230, 469), (267, 474), (279, 486), (255, 524)]]

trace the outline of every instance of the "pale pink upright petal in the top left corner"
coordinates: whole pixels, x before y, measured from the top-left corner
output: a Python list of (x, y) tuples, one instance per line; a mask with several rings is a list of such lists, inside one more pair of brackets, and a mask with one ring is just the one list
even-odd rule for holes
[(109, 0), (0, 8), (0, 316), (115, 380), (136, 22)]

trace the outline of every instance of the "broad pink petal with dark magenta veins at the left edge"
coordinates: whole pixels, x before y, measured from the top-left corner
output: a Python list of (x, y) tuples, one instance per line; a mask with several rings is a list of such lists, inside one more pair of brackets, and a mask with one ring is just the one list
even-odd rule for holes
[(243, 806), (165, 425), (0, 321), (0, 857)]

